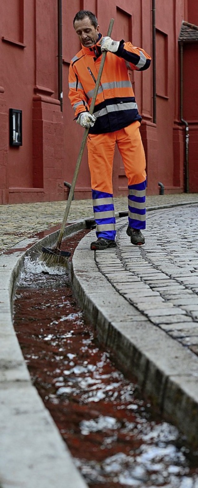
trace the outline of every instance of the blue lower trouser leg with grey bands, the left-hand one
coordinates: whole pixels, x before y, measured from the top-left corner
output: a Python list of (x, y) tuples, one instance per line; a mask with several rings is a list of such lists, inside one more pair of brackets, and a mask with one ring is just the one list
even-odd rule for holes
[(94, 219), (97, 224), (96, 236), (115, 241), (116, 218), (113, 195), (98, 190), (92, 190)]

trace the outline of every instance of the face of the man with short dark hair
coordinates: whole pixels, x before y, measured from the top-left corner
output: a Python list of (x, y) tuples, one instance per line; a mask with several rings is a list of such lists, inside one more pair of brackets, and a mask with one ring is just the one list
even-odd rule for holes
[(99, 25), (94, 27), (89, 17), (85, 17), (83, 20), (76, 20), (74, 28), (83, 46), (91, 47), (98, 41)]

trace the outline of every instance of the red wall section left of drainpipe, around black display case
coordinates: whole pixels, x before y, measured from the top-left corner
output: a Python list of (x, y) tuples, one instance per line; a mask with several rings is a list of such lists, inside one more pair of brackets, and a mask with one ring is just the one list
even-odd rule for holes
[[(0, 3), (2, 203), (64, 198), (56, 19), (56, 1)], [(9, 146), (9, 108), (22, 110), (19, 147)]]

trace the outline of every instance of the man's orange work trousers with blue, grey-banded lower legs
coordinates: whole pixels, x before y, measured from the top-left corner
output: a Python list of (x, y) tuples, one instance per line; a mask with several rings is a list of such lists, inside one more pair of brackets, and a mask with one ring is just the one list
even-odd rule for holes
[[(89, 134), (87, 138), (97, 237), (115, 239), (116, 236), (112, 186), (116, 143), (122, 157), (126, 177), (128, 178), (129, 226), (139, 229), (145, 228), (146, 162), (139, 125), (139, 122), (133, 122), (116, 132)], [(107, 207), (106, 203), (99, 202), (100, 204), (95, 204), (94, 201), (99, 199), (107, 199)], [(98, 213), (99, 215), (96, 215)]]

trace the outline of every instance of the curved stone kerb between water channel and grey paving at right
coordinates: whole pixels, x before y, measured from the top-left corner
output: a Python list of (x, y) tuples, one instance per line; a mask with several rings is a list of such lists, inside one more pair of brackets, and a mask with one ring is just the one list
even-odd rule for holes
[[(119, 295), (93, 259), (89, 250), (93, 238), (94, 233), (86, 235), (75, 250), (74, 295), (95, 326), (99, 342), (112, 350), (121, 370), (136, 377), (142, 392), (162, 415), (198, 447), (198, 357), (143, 314), (137, 314)], [(116, 255), (116, 250), (112, 252)]]

